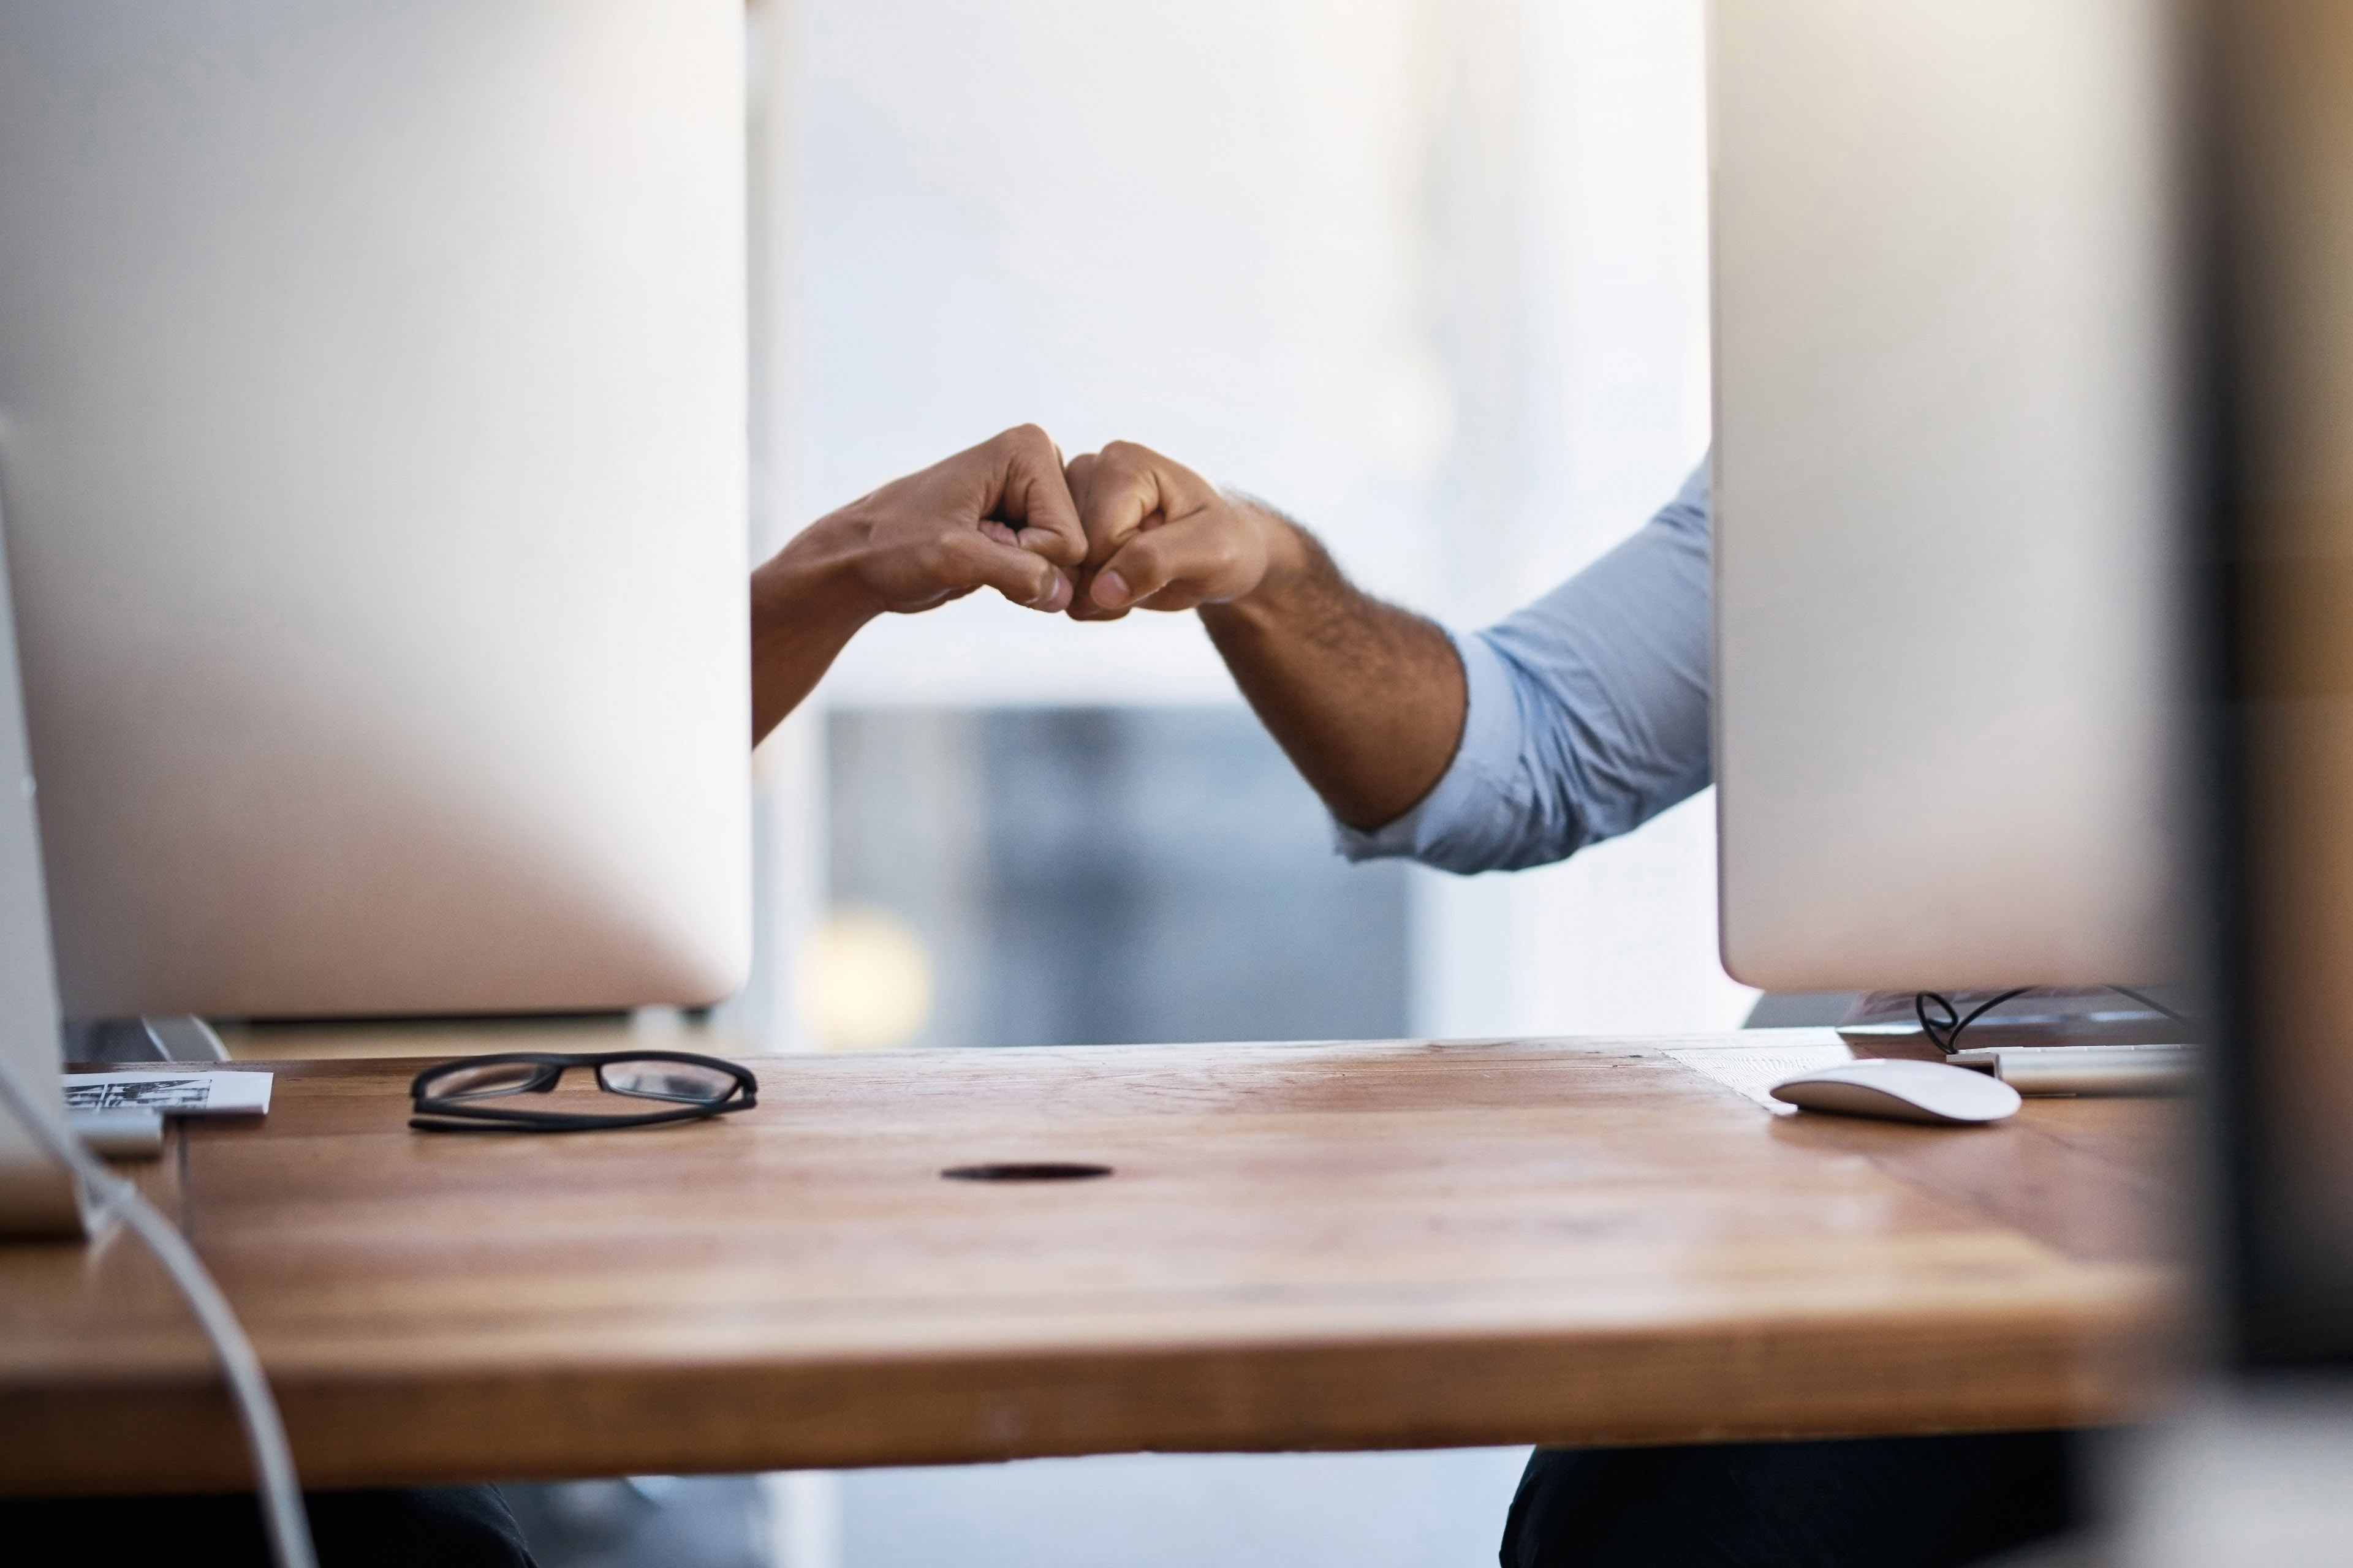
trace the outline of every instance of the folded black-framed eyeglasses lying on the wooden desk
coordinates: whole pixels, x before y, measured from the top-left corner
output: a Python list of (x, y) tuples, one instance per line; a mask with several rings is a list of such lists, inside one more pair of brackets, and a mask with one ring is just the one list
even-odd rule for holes
[[(569, 1067), (593, 1067), (598, 1088), (631, 1100), (661, 1100), (664, 1110), (560, 1112), (504, 1105), (513, 1095), (544, 1095)], [(760, 1103), (760, 1079), (746, 1067), (689, 1051), (511, 1051), (468, 1056), (426, 1067), (409, 1081), (421, 1133), (588, 1133), (607, 1126), (699, 1121)]]

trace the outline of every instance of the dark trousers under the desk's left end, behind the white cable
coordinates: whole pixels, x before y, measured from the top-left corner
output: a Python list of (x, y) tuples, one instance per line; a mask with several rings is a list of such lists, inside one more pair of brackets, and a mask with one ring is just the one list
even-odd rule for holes
[[(515, 1516), (489, 1486), (304, 1493), (320, 1568), (532, 1568)], [(0, 1502), (14, 1568), (268, 1568), (261, 1507), (228, 1497)]]

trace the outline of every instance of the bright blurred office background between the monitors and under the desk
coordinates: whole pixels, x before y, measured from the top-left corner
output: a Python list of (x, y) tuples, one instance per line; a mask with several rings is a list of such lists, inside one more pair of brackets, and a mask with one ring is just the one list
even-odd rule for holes
[[(1704, 0), (753, 0), (755, 548), (1024, 421), (1482, 625), (1708, 444)], [(1713, 804), (1351, 867), (1193, 616), (861, 632), (760, 750), (807, 1051), (1725, 1030)], [(1525, 1450), (579, 1483), (558, 1563), (1492, 1561)]]

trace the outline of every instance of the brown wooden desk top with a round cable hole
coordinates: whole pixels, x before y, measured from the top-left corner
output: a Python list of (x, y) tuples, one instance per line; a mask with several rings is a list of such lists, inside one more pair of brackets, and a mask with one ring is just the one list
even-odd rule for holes
[[(2146, 1406), (2174, 1107), (1774, 1119), (1666, 1056), (1755, 1041), (802, 1056), (755, 1112), (569, 1138), (409, 1133), (414, 1063), (285, 1063), (151, 1180), (313, 1486)], [(1115, 1175), (939, 1175), (986, 1161)], [(242, 1483), (134, 1244), (0, 1248), (0, 1490)]]

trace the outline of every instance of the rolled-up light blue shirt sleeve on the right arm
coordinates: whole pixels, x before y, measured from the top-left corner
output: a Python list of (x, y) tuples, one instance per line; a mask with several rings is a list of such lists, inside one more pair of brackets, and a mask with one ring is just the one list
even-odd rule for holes
[(1445, 776), (1398, 820), (1334, 823), (1351, 860), (1449, 872), (1565, 860), (1708, 788), (1708, 465), (1567, 583), (1449, 632), (1471, 686)]

